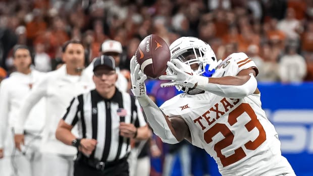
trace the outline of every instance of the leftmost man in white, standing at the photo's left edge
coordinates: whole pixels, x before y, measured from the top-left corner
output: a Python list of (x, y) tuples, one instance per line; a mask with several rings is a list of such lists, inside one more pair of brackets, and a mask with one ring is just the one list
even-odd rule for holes
[(41, 131), (44, 123), (44, 100), (40, 100), (28, 115), (24, 124), (25, 143), (22, 152), (16, 151), (12, 128), (16, 112), (26, 95), (38, 85), (44, 74), (30, 69), (31, 53), (25, 45), (13, 49), (16, 72), (0, 85), (0, 175), (41, 175)]

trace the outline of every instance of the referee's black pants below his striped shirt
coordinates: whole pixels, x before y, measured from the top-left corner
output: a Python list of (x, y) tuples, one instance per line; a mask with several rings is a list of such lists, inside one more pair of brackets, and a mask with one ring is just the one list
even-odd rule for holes
[(105, 170), (97, 170), (83, 162), (74, 162), (74, 176), (129, 176), (127, 160)]

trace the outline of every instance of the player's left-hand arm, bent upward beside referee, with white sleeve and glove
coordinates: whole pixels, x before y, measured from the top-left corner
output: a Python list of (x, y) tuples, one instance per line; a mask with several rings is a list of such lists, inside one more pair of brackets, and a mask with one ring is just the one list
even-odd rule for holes
[(133, 57), (130, 63), (132, 92), (137, 97), (143, 111), (146, 115), (147, 122), (164, 142), (175, 144), (188, 139), (186, 134), (189, 133), (187, 124), (180, 118), (168, 118), (163, 111), (146, 95), (144, 80), (146, 76), (139, 70), (140, 66)]

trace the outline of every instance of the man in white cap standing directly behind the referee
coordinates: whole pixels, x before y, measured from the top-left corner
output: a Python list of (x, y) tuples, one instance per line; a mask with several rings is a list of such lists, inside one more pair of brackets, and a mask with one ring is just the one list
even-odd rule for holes
[[(121, 61), (121, 53), (123, 52), (122, 44), (116, 40), (106, 40), (101, 44), (100, 55), (108, 55), (112, 56), (115, 61), (116, 73), (118, 74), (118, 80), (116, 81), (116, 87), (123, 92), (128, 91), (128, 82), (123, 74), (120, 73), (120, 61)], [(90, 78), (93, 75), (93, 61), (86, 68), (88, 73), (90, 74)]]

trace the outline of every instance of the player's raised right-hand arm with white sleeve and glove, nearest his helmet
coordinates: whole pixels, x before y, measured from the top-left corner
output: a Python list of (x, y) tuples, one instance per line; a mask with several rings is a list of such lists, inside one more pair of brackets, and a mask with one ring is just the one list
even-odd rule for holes
[(237, 76), (207, 78), (200, 75), (188, 74), (179, 69), (182, 67), (181, 65), (183, 65), (183, 63), (179, 60), (173, 60), (172, 63), (168, 62), (168, 67), (171, 68), (175, 74), (160, 76), (159, 79), (172, 80), (172, 82), (161, 84), (162, 87), (175, 85), (191, 88), (196, 87), (228, 98), (243, 98), (257, 90), (255, 71), (253, 69), (242, 70)]

